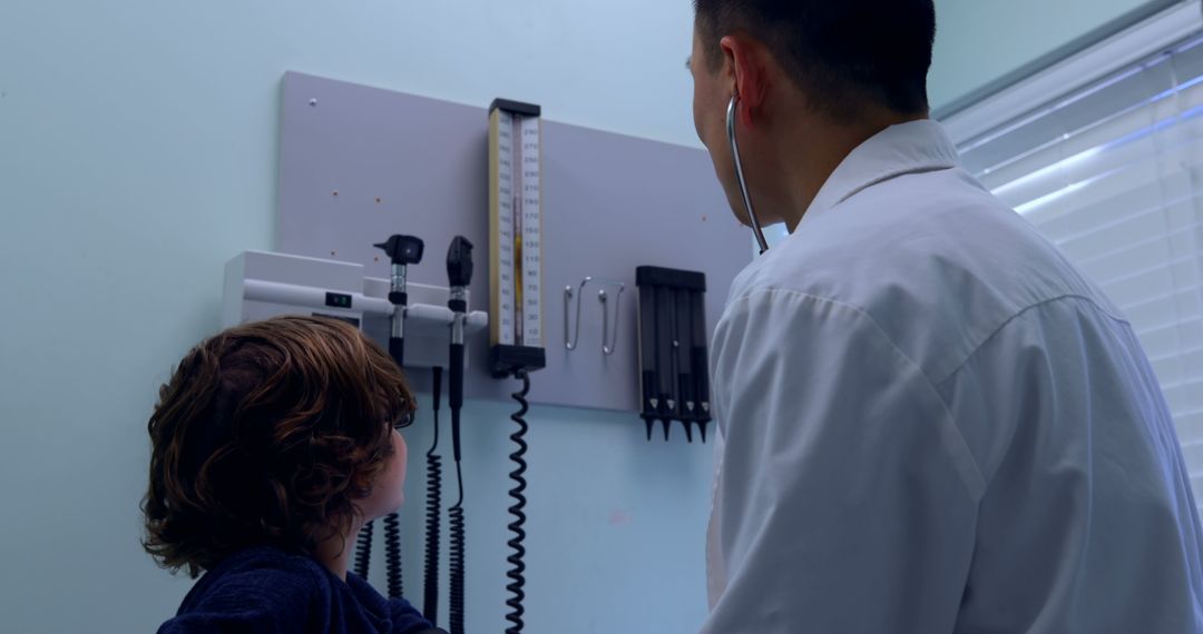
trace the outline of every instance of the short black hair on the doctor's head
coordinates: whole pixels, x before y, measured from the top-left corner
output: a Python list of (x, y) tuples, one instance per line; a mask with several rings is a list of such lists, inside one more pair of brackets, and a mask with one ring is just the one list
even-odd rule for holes
[(718, 42), (742, 31), (837, 120), (855, 119), (866, 103), (929, 109), (934, 0), (694, 0), (694, 11), (712, 72), (723, 61)]

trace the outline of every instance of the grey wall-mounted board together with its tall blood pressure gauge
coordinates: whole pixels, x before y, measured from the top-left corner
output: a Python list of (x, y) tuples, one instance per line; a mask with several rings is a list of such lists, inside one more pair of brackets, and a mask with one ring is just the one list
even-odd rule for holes
[[(752, 259), (704, 150), (552, 121), (517, 101), (472, 107), (300, 73), (282, 101), (280, 251), (389, 279), (373, 246), (387, 235), (475, 245), (468, 291), (491, 322), (487, 341), (466, 345), (468, 399), (508, 400), (512, 384), (496, 375), (545, 366), (533, 403), (641, 412), (635, 265), (725, 287)], [(438, 265), (407, 275), (415, 288), (448, 285)], [(722, 295), (705, 295), (707, 334)], [(407, 365), (429, 391), (432, 372)]]

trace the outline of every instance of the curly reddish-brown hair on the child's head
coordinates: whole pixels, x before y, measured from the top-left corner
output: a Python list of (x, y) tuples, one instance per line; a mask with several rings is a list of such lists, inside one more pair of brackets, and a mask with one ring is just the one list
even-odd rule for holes
[(337, 319), (279, 317), (201, 342), (147, 425), (143, 546), (192, 578), (248, 546), (312, 554), (352, 526), (413, 411), (389, 354)]

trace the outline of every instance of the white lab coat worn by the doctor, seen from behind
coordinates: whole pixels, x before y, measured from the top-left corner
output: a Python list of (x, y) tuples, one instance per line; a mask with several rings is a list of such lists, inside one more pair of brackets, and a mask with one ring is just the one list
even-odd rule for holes
[(707, 634), (1203, 632), (1198, 515), (1119, 310), (885, 130), (731, 286)]

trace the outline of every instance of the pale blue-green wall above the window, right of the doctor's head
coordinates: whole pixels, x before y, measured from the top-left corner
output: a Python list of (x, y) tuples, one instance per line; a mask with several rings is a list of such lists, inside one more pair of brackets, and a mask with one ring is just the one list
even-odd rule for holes
[[(1195, 0), (1197, 2), (1197, 0)], [(930, 96), (940, 109), (1112, 20), (1165, 0), (936, 0)]]

